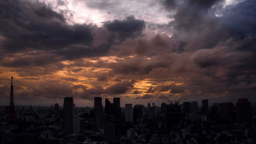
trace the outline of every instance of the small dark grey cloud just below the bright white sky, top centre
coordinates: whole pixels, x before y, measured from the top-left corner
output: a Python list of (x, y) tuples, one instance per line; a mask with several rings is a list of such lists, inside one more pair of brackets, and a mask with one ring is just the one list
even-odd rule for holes
[(134, 16), (128, 16), (124, 20), (105, 22), (104, 26), (110, 32), (117, 32), (119, 38), (125, 40), (128, 37), (139, 36), (146, 25), (144, 20), (137, 20)]

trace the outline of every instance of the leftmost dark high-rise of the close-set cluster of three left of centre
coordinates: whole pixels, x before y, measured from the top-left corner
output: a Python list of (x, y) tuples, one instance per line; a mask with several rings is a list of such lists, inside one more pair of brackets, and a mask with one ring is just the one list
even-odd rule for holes
[(96, 118), (96, 128), (102, 128), (103, 106), (101, 97), (94, 97), (94, 114)]

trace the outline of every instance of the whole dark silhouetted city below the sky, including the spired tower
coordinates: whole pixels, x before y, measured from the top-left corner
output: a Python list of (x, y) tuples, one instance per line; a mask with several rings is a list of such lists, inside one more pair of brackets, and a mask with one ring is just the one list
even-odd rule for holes
[[(94, 107), (62, 104), (0, 108), (0, 144), (255, 144), (256, 103), (247, 98), (214, 103), (125, 104), (94, 98)], [(62, 107), (63, 106), (63, 107)]]

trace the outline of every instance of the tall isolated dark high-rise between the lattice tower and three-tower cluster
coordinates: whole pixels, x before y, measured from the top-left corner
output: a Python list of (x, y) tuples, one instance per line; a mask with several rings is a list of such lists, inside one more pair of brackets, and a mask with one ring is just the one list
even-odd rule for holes
[(73, 123), (74, 123), (74, 102), (72, 97), (64, 98), (63, 104), (63, 127), (65, 132), (73, 132)]

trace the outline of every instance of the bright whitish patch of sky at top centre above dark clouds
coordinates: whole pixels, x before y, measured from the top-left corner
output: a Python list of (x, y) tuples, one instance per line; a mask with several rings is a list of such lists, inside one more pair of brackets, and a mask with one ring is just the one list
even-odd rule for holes
[(98, 26), (102, 22), (135, 18), (154, 24), (166, 24), (170, 21), (162, 4), (155, 0), (39, 0), (51, 6), (57, 12), (66, 12), (69, 24), (89, 24)]

